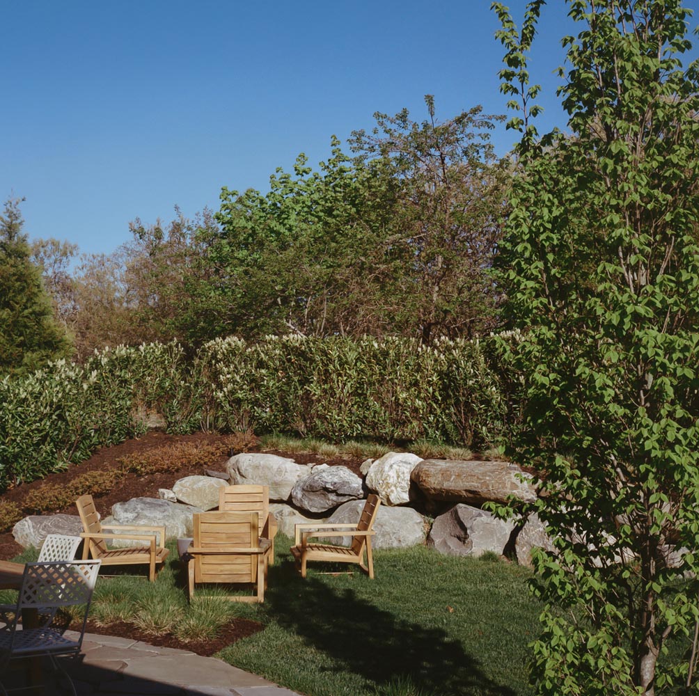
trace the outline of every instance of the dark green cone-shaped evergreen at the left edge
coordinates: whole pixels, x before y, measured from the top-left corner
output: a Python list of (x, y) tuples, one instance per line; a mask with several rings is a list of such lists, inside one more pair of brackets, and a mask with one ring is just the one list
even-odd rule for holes
[(10, 198), (0, 215), (0, 375), (20, 375), (71, 352), (56, 324), (41, 269), (31, 263), (20, 203)]

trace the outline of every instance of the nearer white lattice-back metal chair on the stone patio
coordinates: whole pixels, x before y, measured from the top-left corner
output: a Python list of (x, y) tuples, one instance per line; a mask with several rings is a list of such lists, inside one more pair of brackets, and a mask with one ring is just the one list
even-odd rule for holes
[[(59, 655), (77, 657), (80, 653), (100, 563), (100, 560), (76, 560), (27, 563), (24, 566), (22, 587), (17, 604), (13, 607), (13, 615), (3, 616), (6, 625), (0, 630), (0, 674), (3, 678), (10, 661), (29, 658), (29, 669), (34, 669), (36, 659), (46, 655), (50, 658), (52, 667), (61, 672), (68, 681), (75, 696), (75, 686), (70, 676), (55, 658)], [(80, 619), (80, 632), (77, 637), (64, 635), (69, 624), (65, 616), (56, 621), (59, 618), (57, 614), (64, 607), (73, 608), (71, 615)], [(18, 619), (27, 611), (36, 615), (36, 625), (20, 627)], [(6, 690), (0, 683), (0, 693), (7, 694), (8, 691), (36, 686), (32, 684), (29, 687)]]

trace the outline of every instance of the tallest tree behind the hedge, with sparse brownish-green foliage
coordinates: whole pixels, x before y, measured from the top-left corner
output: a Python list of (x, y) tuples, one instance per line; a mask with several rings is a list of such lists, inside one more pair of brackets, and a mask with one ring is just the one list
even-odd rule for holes
[(428, 343), (496, 326), (500, 298), (488, 272), (512, 166), (496, 157), (489, 140), (504, 117), (475, 106), (440, 121), (431, 94), (425, 104), (424, 121), (414, 121), (407, 109), (376, 113), (375, 128), (354, 131), (349, 143), (359, 161), (380, 163), (400, 182), (390, 227), (405, 278), (395, 288), (396, 305), (400, 324)]

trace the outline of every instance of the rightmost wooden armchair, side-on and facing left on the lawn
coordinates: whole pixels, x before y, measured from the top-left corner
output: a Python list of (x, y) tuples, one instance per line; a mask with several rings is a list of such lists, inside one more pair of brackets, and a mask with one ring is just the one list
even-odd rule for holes
[[(374, 559), (371, 551), (371, 537), (376, 533), (371, 530), (381, 505), (378, 495), (370, 495), (359, 516), (359, 522), (353, 524), (297, 524), (295, 546), (291, 546), (297, 570), (301, 577), (306, 576), (306, 563), (309, 560), (339, 561), (356, 563), (370, 578), (374, 577)], [(352, 529), (353, 528), (353, 529)], [(343, 530), (343, 531), (327, 531)], [(330, 546), (329, 544), (309, 544), (311, 537), (347, 537), (352, 536), (352, 546)], [(363, 563), (366, 550), (366, 565)]]

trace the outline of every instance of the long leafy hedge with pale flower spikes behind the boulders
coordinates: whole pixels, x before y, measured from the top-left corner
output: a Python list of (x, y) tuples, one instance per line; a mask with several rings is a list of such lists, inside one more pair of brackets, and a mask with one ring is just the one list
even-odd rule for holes
[[(0, 490), (143, 433), (286, 433), (329, 440), (496, 444), (512, 398), (496, 342), (270, 337), (119, 347), (0, 381)], [(494, 367), (493, 367), (494, 366)]]

